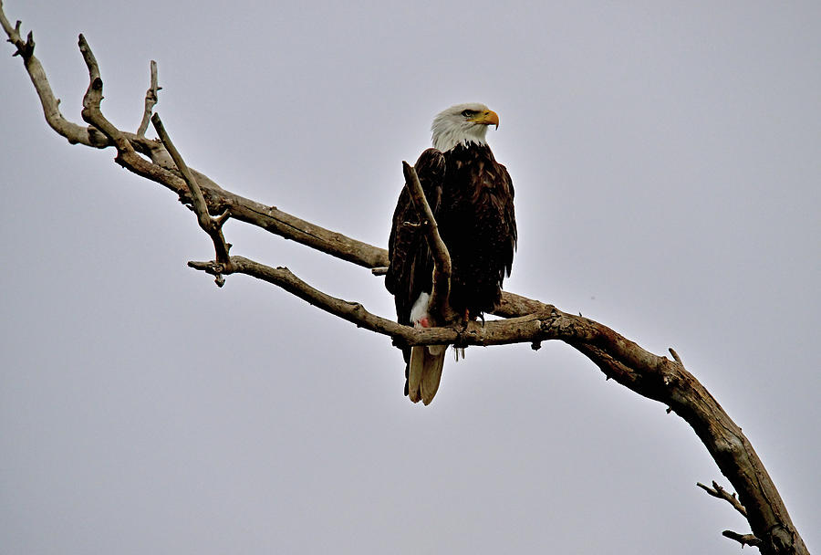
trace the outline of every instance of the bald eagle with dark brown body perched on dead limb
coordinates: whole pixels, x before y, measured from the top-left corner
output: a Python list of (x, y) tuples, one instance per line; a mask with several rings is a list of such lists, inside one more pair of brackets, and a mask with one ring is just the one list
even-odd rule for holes
[[(416, 172), (442, 241), (451, 255), (450, 305), (467, 319), (484, 317), (502, 299), (516, 247), (514, 187), (504, 165), (485, 141), (499, 116), (483, 104), (452, 106), (431, 125), (433, 148), (421, 153)], [(430, 327), (428, 309), (433, 259), (407, 188), (393, 214), (385, 287), (394, 296), (400, 324)], [(405, 394), (431, 403), (442, 379), (447, 345), (400, 345), (405, 358)]]

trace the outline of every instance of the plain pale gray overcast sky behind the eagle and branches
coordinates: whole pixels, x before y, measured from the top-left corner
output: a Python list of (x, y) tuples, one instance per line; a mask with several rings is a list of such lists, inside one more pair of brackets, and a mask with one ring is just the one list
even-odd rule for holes
[[(278, 5), (283, 4), (283, 5)], [(401, 160), (482, 101), (516, 187), (506, 288), (674, 347), (821, 547), (821, 5), (5, 0), (80, 120), (161, 113), (224, 187), (385, 245)], [(666, 3), (665, 3), (666, 4)], [(4, 43), (5, 44), (5, 43)], [(2, 47), (8, 553), (734, 553), (691, 428), (572, 349), (471, 348), (431, 406), (390, 340), (252, 278), (161, 187), (47, 128)], [(382, 315), (381, 278), (232, 223), (234, 254)]]

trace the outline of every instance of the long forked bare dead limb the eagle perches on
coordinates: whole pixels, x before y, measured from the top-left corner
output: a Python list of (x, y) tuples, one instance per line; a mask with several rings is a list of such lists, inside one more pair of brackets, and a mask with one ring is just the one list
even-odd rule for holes
[[(97, 149), (115, 147), (115, 162), (130, 172), (167, 187), (179, 195), (183, 204), (195, 204), (198, 219), (201, 219), (201, 224), (205, 222), (203, 228), (212, 226), (219, 229), (225, 217), (222, 215), (229, 211), (231, 217), (236, 220), (295, 240), (332, 257), (371, 269), (387, 267), (387, 253), (378, 246), (368, 245), (288, 215), (275, 207), (226, 191), (195, 170), (190, 170), (190, 175), (182, 177), (188, 173), (187, 166), (182, 162), (182, 158), (178, 163), (172, 160), (169, 153), (171, 141), (147, 139), (142, 125), (136, 134), (117, 129), (100, 110), (103, 82), (99, 65), (82, 36), (79, 37), (79, 47), (89, 75), (88, 90), (83, 99), (82, 118), (88, 126), (66, 120), (58, 109), (59, 100), (48, 84), (46, 73), (34, 55), (35, 42), (32, 34), (29, 33), (24, 39), (20, 31), (20, 22), (17, 22), (16, 26), (10, 25), (3, 12), (2, 0), (0, 25), (3, 26), (8, 41), (15, 47), (14, 55), (23, 60), (48, 125), (72, 144), (84, 144)], [(154, 87), (153, 81), (152, 71), (150, 93), (147, 94), (143, 115), (153, 109), (153, 103), (150, 107), (148, 99), (151, 89), (159, 90), (159, 87)], [(197, 193), (197, 190), (200, 193)], [(208, 216), (207, 220), (203, 215)], [(212, 218), (210, 215), (221, 216)], [(224, 248), (219, 243), (224, 244)], [(439, 327), (415, 330), (400, 326), (391, 319), (371, 314), (357, 302), (334, 298), (311, 288), (287, 268), (267, 267), (247, 258), (229, 257), (224, 239), (214, 240), (214, 244), (217, 251), (216, 260), (192, 262), (190, 266), (213, 275), (243, 273), (265, 280), (339, 318), (390, 337), (400, 337), (411, 345), (497, 345), (530, 342), (536, 347), (542, 340), (564, 341), (585, 354), (608, 378), (640, 395), (664, 403), (670, 407), (670, 411), (680, 415), (691, 425), (722, 474), (738, 492), (738, 506), (733, 501), (731, 503), (740, 512), (743, 508), (753, 531), (750, 535), (725, 531), (725, 536), (740, 541), (742, 545), (754, 545), (764, 555), (808, 553), (753, 446), (721, 405), (690, 372), (685, 370), (675, 351), (670, 351), (674, 359), (670, 361), (667, 357), (645, 351), (638, 344), (592, 319), (569, 314), (538, 300), (508, 292), (504, 293), (501, 306), (494, 311), (497, 316), (504, 319), (489, 321), (483, 328), (469, 327), (466, 330), (457, 330)], [(719, 496), (727, 499), (722, 494)]]

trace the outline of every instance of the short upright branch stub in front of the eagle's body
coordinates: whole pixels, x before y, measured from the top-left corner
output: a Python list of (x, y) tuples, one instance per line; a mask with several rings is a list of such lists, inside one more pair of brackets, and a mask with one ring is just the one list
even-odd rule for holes
[(448, 253), (448, 247), (442, 241), (442, 236), (439, 235), (439, 225), (436, 224), (436, 218), (433, 217), (431, 204), (428, 204), (428, 199), (425, 198), (416, 169), (410, 163), (402, 162), (402, 173), (405, 174), (405, 186), (408, 187), (408, 193), (411, 194), (411, 201), (413, 201), (413, 206), (416, 208), (417, 215), (419, 215), (419, 225), (424, 228), (425, 239), (428, 242), (428, 248), (431, 249), (431, 257), (433, 258), (430, 311), (436, 315), (434, 320), (439, 320), (437, 324), (454, 321), (456, 314), (448, 302), (451, 290), (451, 255)]

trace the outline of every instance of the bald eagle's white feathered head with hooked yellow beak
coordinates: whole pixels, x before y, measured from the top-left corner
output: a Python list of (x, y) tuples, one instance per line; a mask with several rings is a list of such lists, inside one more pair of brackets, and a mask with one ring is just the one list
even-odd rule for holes
[(442, 110), (431, 125), (433, 148), (450, 151), (457, 144), (486, 144), (488, 125), (499, 127), (499, 116), (484, 104), (469, 102)]

